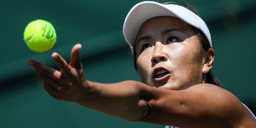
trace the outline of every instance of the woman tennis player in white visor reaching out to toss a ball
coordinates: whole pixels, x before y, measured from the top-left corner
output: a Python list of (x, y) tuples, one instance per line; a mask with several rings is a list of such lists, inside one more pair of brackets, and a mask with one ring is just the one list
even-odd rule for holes
[(129, 121), (166, 128), (255, 128), (256, 118), (210, 72), (211, 35), (204, 21), (180, 5), (141, 2), (128, 13), (124, 37), (141, 82), (97, 83), (84, 75), (80, 44), (68, 64), (53, 53), (60, 71), (29, 60), (58, 100), (73, 101)]

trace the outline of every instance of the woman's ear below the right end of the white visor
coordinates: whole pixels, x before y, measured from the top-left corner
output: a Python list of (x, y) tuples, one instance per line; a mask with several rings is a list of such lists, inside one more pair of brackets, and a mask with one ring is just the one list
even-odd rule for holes
[(202, 73), (208, 73), (212, 69), (213, 62), (214, 50), (209, 48), (209, 50), (204, 53), (204, 65), (202, 67)]

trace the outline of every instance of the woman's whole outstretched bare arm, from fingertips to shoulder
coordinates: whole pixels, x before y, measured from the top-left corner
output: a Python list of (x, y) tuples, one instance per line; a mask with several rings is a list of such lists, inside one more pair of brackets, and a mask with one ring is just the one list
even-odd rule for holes
[(80, 44), (72, 48), (69, 64), (59, 54), (52, 54), (60, 71), (28, 61), (44, 80), (45, 90), (58, 100), (74, 101), (130, 121), (181, 127), (256, 126), (241, 102), (215, 85), (199, 84), (176, 91), (137, 81), (111, 84), (88, 81), (80, 63), (80, 48)]

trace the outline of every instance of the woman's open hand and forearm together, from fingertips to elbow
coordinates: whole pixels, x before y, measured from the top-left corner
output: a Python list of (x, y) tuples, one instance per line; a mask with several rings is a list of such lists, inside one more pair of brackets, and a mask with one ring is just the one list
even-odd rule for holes
[[(74, 101), (87, 108), (102, 111), (126, 120), (137, 121), (147, 115), (147, 102), (141, 95), (137, 81), (103, 84), (88, 81), (80, 63), (80, 44), (72, 48), (68, 64), (58, 53), (53, 53), (60, 71), (29, 60), (44, 80), (45, 90), (58, 100)], [(144, 85), (144, 88), (149, 86)]]

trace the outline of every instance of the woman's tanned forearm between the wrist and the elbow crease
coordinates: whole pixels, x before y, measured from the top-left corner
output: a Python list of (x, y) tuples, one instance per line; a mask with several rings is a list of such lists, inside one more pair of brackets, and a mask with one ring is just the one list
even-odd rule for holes
[(144, 93), (149, 86), (137, 81), (103, 84), (88, 81), (77, 101), (82, 106), (130, 121), (142, 120), (148, 112)]

